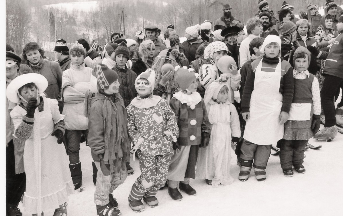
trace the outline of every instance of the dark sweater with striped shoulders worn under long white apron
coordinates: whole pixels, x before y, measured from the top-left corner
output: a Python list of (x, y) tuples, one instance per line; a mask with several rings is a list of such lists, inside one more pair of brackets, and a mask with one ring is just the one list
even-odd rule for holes
[[(254, 90), (255, 71), (259, 63), (260, 63), (259, 60), (255, 60), (254, 62), (251, 63), (248, 69), (248, 74), (247, 74), (247, 79), (245, 81), (245, 87), (243, 90), (243, 98), (242, 98), (242, 104), (241, 104), (242, 112), (249, 112), (251, 93)], [(278, 58), (268, 58), (268, 57), (263, 56), (261, 70), (262, 71), (275, 71), (277, 63), (279, 63)], [(291, 103), (293, 100), (294, 81), (293, 81), (293, 68), (285, 60), (282, 60), (281, 62), (281, 81), (280, 81), (279, 92), (283, 96), (281, 111), (285, 111), (288, 113), (289, 110), (291, 109)]]

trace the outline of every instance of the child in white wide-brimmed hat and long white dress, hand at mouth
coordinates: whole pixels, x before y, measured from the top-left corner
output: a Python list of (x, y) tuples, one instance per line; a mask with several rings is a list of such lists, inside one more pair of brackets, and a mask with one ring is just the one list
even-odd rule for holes
[[(74, 193), (63, 141), (64, 116), (56, 99), (41, 97), (48, 82), (37, 73), (16, 77), (7, 87), (7, 98), (17, 105), (10, 115), (14, 136), (26, 140), (24, 167), (25, 212), (40, 215), (56, 209), (54, 216), (67, 215), (68, 195)], [(43, 215), (43, 213), (42, 213)]]

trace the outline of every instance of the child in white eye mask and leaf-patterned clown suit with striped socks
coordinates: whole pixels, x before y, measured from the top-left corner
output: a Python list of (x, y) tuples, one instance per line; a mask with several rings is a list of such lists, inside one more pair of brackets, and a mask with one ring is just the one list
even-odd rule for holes
[(172, 140), (179, 136), (175, 114), (165, 99), (152, 94), (154, 85), (154, 70), (141, 73), (135, 80), (138, 96), (126, 108), (129, 138), (141, 170), (129, 195), (134, 212), (144, 211), (142, 199), (150, 207), (158, 206), (155, 194), (166, 183), (173, 155)]

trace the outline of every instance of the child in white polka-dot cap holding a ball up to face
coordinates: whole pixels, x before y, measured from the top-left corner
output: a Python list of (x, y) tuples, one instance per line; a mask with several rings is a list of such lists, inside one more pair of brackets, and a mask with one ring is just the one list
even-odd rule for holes
[(227, 77), (226, 85), (229, 89), (229, 102), (234, 103), (234, 91), (238, 91), (240, 74), (234, 59), (226, 56), (228, 50), (224, 42), (215, 41), (206, 46), (204, 58), (209, 59), (211, 64), (203, 64), (199, 70), (199, 81), (205, 89), (222, 74)]

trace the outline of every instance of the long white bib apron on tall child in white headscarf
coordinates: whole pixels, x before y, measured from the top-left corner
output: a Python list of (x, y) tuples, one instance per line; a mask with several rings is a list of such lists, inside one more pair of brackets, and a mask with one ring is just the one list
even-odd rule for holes
[(275, 72), (261, 71), (262, 60), (256, 68), (254, 90), (250, 98), (250, 119), (243, 138), (257, 145), (275, 145), (283, 138), (284, 126), (279, 124), (282, 108), (280, 90), (281, 59)]

